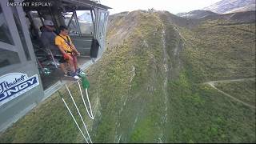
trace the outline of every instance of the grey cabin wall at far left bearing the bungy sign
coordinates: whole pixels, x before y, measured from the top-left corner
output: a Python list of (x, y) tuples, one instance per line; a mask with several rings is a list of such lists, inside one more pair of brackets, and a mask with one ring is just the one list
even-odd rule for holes
[[(4, 36), (0, 36), (0, 52), (2, 54), (0, 61), (6, 62), (6, 65), (0, 66), (0, 131), (6, 130), (13, 122), (37, 106), (44, 97), (22, 7), (6, 6), (6, 2), (7, 0), (0, 1), (2, 9), (0, 17), (4, 21), (0, 31), (6, 33), (6, 30), (9, 30), (10, 38), (14, 43), (3, 42)], [(16, 13), (14, 10), (17, 10)], [(7, 57), (12, 53), (17, 55)], [(11, 58), (17, 58), (20, 62), (11, 63)], [(24, 77), (25, 75), (27, 78)], [(19, 78), (21, 78), (20, 81), (17, 80)]]

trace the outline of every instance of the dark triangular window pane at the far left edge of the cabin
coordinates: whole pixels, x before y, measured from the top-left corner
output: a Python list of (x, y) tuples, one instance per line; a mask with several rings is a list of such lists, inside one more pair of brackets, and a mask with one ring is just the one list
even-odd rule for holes
[(2, 7), (0, 5), (0, 41), (14, 45), (13, 38), (10, 35), (10, 30), (8, 29), (6, 18), (2, 13)]

